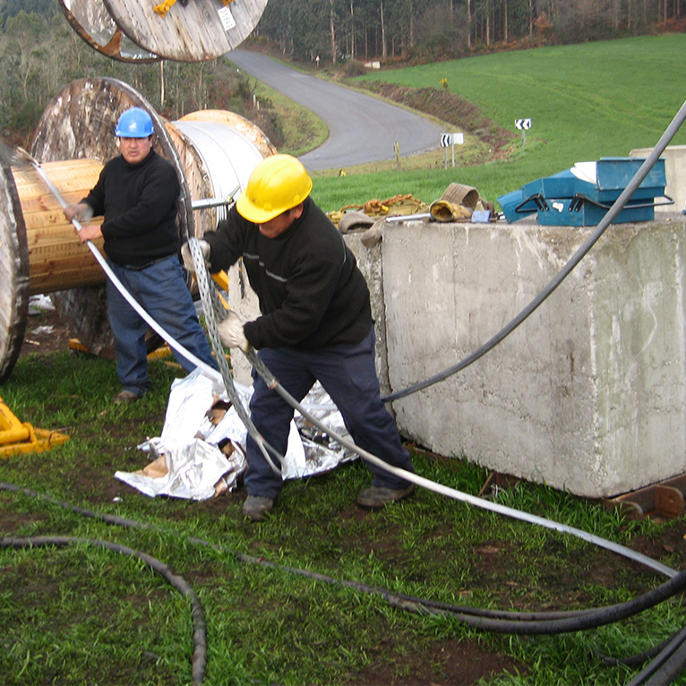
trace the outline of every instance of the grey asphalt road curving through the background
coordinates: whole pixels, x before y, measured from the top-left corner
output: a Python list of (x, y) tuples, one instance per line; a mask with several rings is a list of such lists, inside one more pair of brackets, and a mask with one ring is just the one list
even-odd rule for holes
[(307, 107), (329, 127), (329, 138), (300, 157), (310, 171), (395, 159), (396, 142), (401, 157), (440, 145), (442, 128), (402, 107), (296, 72), (259, 53), (232, 50), (227, 59)]

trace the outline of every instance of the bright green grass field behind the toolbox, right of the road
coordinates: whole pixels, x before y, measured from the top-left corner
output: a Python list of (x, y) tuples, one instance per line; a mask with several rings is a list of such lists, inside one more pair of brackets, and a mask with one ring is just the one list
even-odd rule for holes
[[(362, 79), (412, 88), (450, 90), (482, 108), (493, 123), (516, 132), (514, 120), (528, 117), (527, 143), (521, 135), (509, 161), (444, 169), (435, 156), (424, 169), (396, 172), (390, 165), (364, 180), (317, 177), (314, 198), (327, 210), (396, 193), (431, 202), (452, 181), (475, 186), (482, 197), (497, 196), (575, 162), (626, 157), (652, 147), (686, 99), (686, 34), (674, 33), (541, 47), (470, 57), (407, 69), (369, 73)], [(686, 144), (686, 129), (673, 145)], [(450, 165), (450, 161), (449, 161)]]

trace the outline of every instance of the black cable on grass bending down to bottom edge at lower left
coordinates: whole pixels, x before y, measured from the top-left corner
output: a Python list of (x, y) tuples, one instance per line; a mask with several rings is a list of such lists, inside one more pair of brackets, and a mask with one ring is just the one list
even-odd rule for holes
[[(64, 503), (60, 503), (64, 504)], [(70, 508), (74, 511), (81, 510), (81, 508)], [(86, 514), (88, 510), (82, 510), (81, 514)], [(87, 514), (87, 516), (95, 516)], [(161, 562), (148, 553), (141, 553), (139, 550), (133, 550), (126, 545), (119, 545), (110, 543), (109, 541), (99, 541), (92, 538), (79, 538), (77, 536), (31, 536), (30, 538), (15, 538), (13, 536), (4, 536), (0, 539), (0, 547), (4, 548), (31, 548), (43, 547), (46, 545), (72, 545), (85, 544), (95, 545), (100, 548), (111, 550), (115, 553), (128, 555), (129, 557), (137, 557), (141, 562), (144, 562), (151, 570), (156, 571), (161, 577), (166, 579), (173, 587), (176, 588), (182, 596), (187, 597), (191, 601), (191, 613), (193, 616), (193, 686), (200, 686), (205, 679), (205, 666), (207, 665), (207, 628), (205, 624), (205, 613), (202, 609), (202, 604), (198, 596), (195, 595), (193, 588), (188, 585), (183, 577), (175, 574), (170, 570), (164, 562)]]

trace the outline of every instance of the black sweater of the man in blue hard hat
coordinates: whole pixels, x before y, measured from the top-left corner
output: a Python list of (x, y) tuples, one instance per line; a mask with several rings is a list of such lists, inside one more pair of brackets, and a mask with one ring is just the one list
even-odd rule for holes
[(141, 267), (178, 251), (179, 192), (174, 167), (150, 150), (134, 165), (121, 155), (110, 159), (81, 202), (88, 202), (96, 217), (105, 217), (107, 257), (121, 266)]

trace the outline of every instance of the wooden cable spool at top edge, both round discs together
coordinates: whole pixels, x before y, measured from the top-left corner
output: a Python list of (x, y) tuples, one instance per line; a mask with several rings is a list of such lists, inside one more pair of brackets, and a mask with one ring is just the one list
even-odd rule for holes
[(238, 47), (260, 21), (267, 0), (60, 0), (64, 15), (82, 39), (103, 55), (123, 62), (217, 59)]

